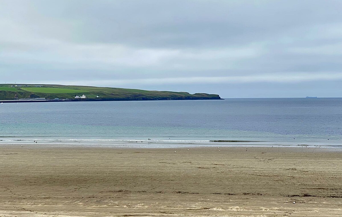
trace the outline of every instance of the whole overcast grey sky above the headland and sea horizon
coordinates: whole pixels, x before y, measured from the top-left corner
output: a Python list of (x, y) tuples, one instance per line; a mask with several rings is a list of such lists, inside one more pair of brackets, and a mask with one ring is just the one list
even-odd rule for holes
[(341, 97), (339, 0), (0, 0), (0, 83)]

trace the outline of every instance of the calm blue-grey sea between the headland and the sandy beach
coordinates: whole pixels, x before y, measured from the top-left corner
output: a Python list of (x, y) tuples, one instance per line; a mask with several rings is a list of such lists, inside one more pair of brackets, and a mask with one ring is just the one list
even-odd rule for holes
[(342, 147), (342, 98), (0, 105), (0, 144)]

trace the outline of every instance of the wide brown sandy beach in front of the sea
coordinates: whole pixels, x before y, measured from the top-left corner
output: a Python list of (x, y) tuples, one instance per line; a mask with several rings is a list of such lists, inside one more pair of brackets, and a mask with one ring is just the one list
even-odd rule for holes
[(342, 216), (341, 151), (187, 149), (2, 145), (0, 216)]

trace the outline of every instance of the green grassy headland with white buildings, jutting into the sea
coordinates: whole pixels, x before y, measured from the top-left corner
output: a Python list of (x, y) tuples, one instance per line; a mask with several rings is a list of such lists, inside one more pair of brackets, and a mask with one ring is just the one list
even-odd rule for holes
[[(82, 97), (83, 96), (83, 97)], [(135, 100), (220, 100), (217, 94), (172, 91), (149, 91), (138, 89), (41, 85), (0, 84), (0, 100), (46, 100), (68, 101), (135, 101)]]

